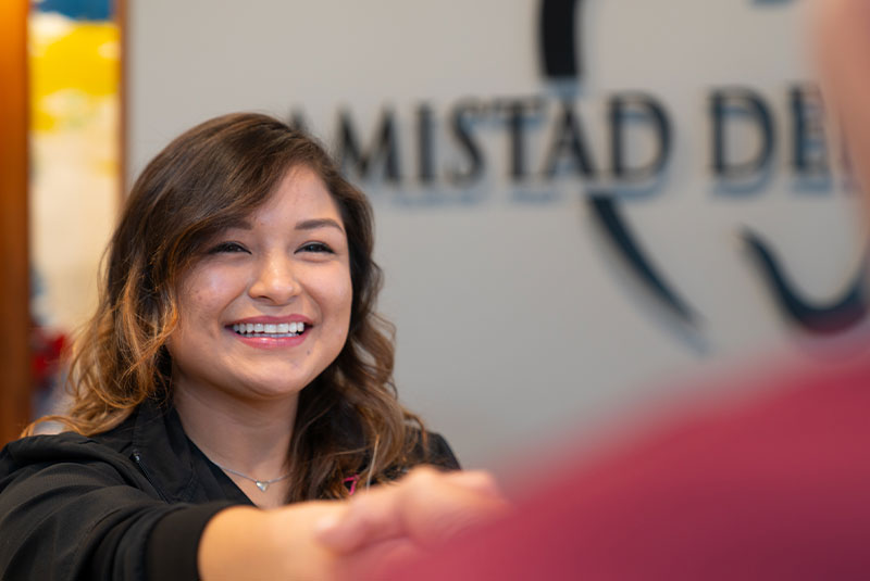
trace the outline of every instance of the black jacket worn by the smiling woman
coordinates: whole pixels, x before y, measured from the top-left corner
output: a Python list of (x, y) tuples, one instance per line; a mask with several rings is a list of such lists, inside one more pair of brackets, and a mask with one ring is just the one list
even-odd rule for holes
[[(430, 462), (458, 468), (430, 442)], [(252, 503), (174, 409), (146, 403), (91, 438), (24, 438), (0, 452), (0, 579), (196, 579), (202, 530), (238, 504)]]

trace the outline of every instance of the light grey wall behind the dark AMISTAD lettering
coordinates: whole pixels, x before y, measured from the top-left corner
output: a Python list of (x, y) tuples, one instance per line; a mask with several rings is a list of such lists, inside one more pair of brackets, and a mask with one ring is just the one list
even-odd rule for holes
[[(673, 152), (660, 188), (623, 197), (621, 207), (698, 324), (661, 308), (596, 230), (586, 192), (612, 180), (511, 184), (507, 131), (490, 115), (477, 128), (488, 167), (472, 189), (476, 203), (458, 203), (463, 190), (442, 178), (433, 187), (362, 182), (387, 275), (382, 308), (398, 327), (401, 396), (465, 464), (497, 467), (509, 446), (645, 405), (671, 378), (766, 351), (805, 356), (809, 336), (778, 311), (737, 235), (744, 225), (762, 233), (810, 299), (835, 296), (858, 268), (856, 195), (840, 178), (806, 191), (788, 166), (787, 90), (812, 79), (806, 2), (585, 3), (587, 75), (572, 86), (543, 79), (537, 7), (527, 0), (134, 1), (130, 178), (172, 137), (216, 114), (301, 110), (332, 143), (339, 108), (368, 136), (385, 105), (397, 112), (412, 174), (421, 101), (442, 123), (464, 98), (539, 96), (552, 108), (566, 92), (605, 165), (607, 99), (643, 90), (670, 114)], [(743, 195), (722, 193), (710, 172), (708, 97), (735, 85), (765, 97), (778, 135), (769, 180)], [(554, 115), (530, 129), (532, 169)], [(444, 173), (463, 157), (438, 127)], [(751, 151), (754, 132), (737, 135), (735, 152)], [(635, 147), (643, 155), (648, 143)]]

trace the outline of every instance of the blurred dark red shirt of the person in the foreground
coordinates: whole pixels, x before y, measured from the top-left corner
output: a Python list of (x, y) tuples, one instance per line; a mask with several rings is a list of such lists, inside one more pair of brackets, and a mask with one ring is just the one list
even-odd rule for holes
[(515, 514), (394, 578), (870, 578), (870, 363), (760, 381), (775, 395), (567, 459)]

